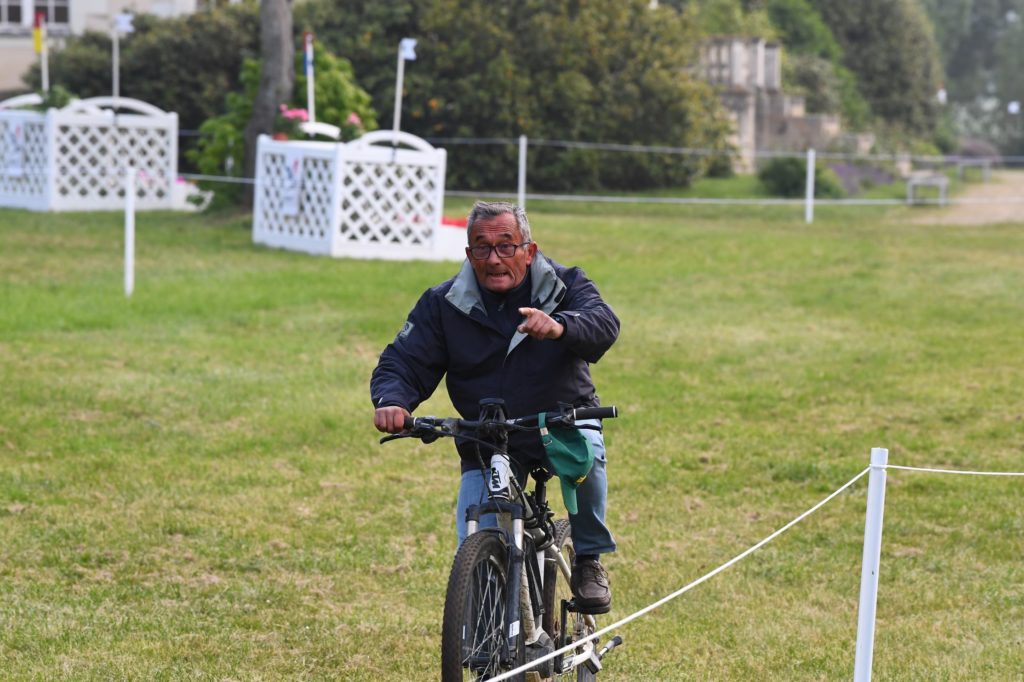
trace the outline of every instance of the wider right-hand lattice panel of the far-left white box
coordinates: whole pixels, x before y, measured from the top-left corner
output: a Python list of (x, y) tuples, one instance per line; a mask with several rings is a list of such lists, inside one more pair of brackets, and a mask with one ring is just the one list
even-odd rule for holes
[(136, 207), (171, 208), (177, 126), (141, 116), (54, 116), (54, 210), (124, 207), (124, 173), (133, 167)]

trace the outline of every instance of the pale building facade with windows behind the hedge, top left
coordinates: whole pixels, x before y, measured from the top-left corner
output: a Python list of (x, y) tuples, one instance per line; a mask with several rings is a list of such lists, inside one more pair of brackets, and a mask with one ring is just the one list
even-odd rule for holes
[[(39, 60), (32, 43), (37, 14), (46, 19), (49, 48), (86, 31), (110, 32), (121, 12), (178, 16), (195, 12), (197, 0), (0, 0), (0, 91), (25, 91), (22, 76)], [(50, 82), (59, 74), (50, 72)]]

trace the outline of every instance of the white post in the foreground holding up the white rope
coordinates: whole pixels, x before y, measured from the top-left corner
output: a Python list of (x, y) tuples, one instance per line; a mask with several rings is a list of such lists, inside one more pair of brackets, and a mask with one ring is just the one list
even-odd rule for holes
[(886, 465), (889, 451), (871, 449), (871, 471), (867, 474), (867, 514), (864, 520), (864, 555), (860, 569), (860, 606), (857, 608), (857, 657), (854, 682), (870, 682), (874, 650), (874, 606), (879, 596), (879, 564), (882, 560), (882, 515), (886, 506)]

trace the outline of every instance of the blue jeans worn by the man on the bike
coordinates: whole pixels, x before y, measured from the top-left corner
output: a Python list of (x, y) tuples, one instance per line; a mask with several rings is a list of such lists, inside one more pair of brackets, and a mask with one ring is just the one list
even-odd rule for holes
[[(597, 421), (581, 421), (581, 424), (598, 425)], [(604, 524), (604, 509), (608, 501), (608, 477), (605, 473), (607, 460), (604, 452), (604, 436), (600, 431), (581, 429), (581, 433), (594, 446), (594, 467), (590, 470), (587, 480), (577, 488), (577, 508), (579, 513), (569, 514), (572, 525), (572, 545), (577, 554), (608, 554), (615, 551), (615, 541)], [(548, 481), (548, 491), (561, 491), (557, 479)], [(470, 505), (480, 504), (487, 499), (487, 487), (484, 477), (477, 470), (462, 474), (459, 485), (459, 503), (455, 511), (455, 524), (459, 532), (459, 544), (466, 539), (466, 510)], [(480, 518), (480, 527), (497, 526), (494, 514)]]

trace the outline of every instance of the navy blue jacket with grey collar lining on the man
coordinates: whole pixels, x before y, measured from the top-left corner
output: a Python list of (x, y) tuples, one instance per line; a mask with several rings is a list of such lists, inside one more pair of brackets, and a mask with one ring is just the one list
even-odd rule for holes
[[(565, 267), (540, 252), (529, 266), (530, 307), (559, 313), (565, 333), (557, 340), (511, 338), (488, 318), (469, 261), (459, 273), (420, 297), (398, 335), (381, 353), (370, 380), (375, 408), (414, 412), (447, 374), (452, 403), (463, 419), (479, 416), (481, 398), (503, 398), (510, 417), (600, 404), (590, 376), (618, 336), (618, 317), (579, 267)], [(536, 434), (513, 433), (514, 459), (540, 461)], [(475, 447), (459, 444), (463, 470), (475, 469)]]

